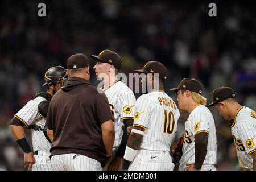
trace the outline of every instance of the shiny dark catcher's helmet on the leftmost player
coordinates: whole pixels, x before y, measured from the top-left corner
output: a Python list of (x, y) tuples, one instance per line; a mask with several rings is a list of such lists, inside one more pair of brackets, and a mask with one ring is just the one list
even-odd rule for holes
[(68, 80), (66, 69), (61, 66), (51, 67), (44, 74), (44, 85), (49, 83), (57, 84), (58, 82), (65, 82)]

